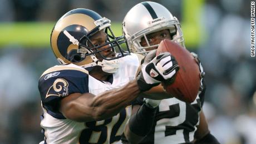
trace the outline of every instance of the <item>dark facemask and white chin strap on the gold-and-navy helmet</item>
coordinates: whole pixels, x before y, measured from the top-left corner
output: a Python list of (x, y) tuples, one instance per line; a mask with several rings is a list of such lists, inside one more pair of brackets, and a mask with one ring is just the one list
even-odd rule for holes
[[(90, 56), (93, 60), (92, 63), (84, 64), (81, 67), (93, 67), (93, 66), (101, 66), (104, 70), (104, 66), (107, 66), (105, 69), (111, 69), (111, 65), (113, 68), (118, 68), (117, 63), (119, 63), (118, 58), (127, 56), (130, 54), (130, 49), (127, 46), (127, 41), (124, 36), (115, 37), (112, 29), (110, 28), (110, 20), (107, 18), (99, 19), (95, 21), (95, 24), (98, 24), (97, 27), (93, 28), (92, 31), (82, 36), (79, 41), (71, 36), (67, 31), (64, 33), (70, 39), (73, 44), (78, 45), (78, 49), (76, 49), (76, 53), (79, 55), (75, 55), (75, 57), (70, 59), (70, 61), (83, 61), (86, 57)], [(91, 41), (91, 37), (94, 36), (97, 32), (104, 31), (106, 33), (106, 42), (101, 45), (95, 45)], [(126, 44), (126, 47), (121, 47), (121, 44)], [(101, 52), (107, 51), (111, 49), (112, 52), (117, 53), (114, 57), (105, 57)], [(68, 54), (72, 55), (72, 53)], [(107, 71), (113, 73), (114, 71)]]

